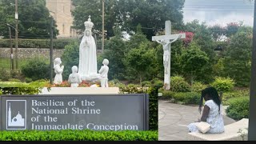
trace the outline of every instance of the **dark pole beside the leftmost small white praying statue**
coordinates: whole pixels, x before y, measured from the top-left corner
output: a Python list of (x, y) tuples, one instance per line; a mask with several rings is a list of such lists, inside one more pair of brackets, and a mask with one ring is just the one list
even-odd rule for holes
[(50, 20), (50, 84), (53, 84), (53, 49), (54, 49), (54, 44), (53, 44), (53, 36), (54, 36), (54, 18), (51, 17)]

